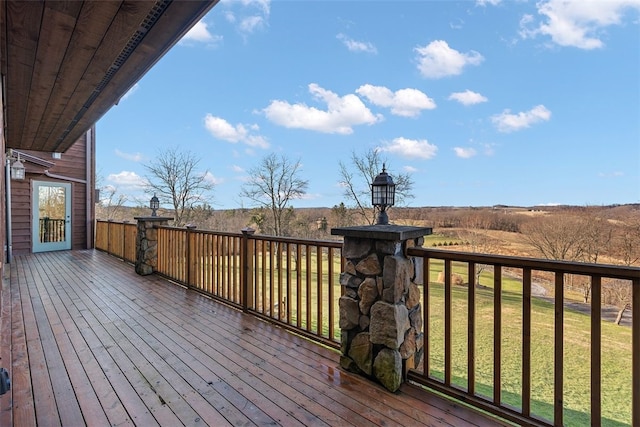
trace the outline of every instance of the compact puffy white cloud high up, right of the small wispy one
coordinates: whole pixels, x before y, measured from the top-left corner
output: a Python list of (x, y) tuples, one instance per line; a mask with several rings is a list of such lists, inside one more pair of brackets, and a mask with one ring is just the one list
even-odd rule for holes
[(444, 40), (435, 40), (414, 50), (418, 54), (418, 70), (423, 77), (432, 79), (459, 75), (467, 65), (479, 65), (484, 60), (478, 52), (458, 52)]

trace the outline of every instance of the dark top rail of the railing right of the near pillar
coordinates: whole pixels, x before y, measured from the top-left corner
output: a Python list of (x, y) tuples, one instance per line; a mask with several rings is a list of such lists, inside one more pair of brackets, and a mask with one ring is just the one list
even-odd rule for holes
[(543, 260), (539, 258), (517, 257), (509, 255), (487, 255), (471, 252), (427, 249), (419, 247), (409, 248), (407, 254), (412, 256), (437, 258), (451, 261), (466, 261), (475, 262), (478, 264), (495, 264), (504, 267), (531, 268), (533, 270), (568, 272), (572, 274), (603, 276), (615, 279), (640, 279), (640, 267), (630, 267), (624, 265)]

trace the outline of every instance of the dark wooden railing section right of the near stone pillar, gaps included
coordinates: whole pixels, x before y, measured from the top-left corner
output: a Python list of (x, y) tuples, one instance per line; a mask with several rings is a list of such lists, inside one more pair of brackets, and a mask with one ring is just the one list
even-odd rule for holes
[[(411, 248), (408, 255), (422, 260), (423, 277), (429, 278), (422, 297), (424, 357), (409, 371), (411, 381), (524, 425), (640, 426), (639, 268), (424, 248)], [(444, 283), (438, 283), (442, 272)], [(572, 277), (591, 285), (581, 315), (564, 297), (564, 283)], [(536, 281), (546, 278), (553, 294), (534, 296)], [(634, 315), (630, 330), (622, 329), (627, 338), (621, 345), (603, 345), (614, 341), (609, 331), (622, 328), (602, 322), (605, 284), (629, 287)], [(588, 319), (586, 328), (580, 319)], [(624, 360), (629, 371), (605, 374), (604, 366), (611, 365), (605, 356)], [(585, 378), (586, 390), (573, 387)], [(615, 414), (602, 413), (605, 394)], [(585, 411), (566, 416), (568, 406), (580, 404)]]

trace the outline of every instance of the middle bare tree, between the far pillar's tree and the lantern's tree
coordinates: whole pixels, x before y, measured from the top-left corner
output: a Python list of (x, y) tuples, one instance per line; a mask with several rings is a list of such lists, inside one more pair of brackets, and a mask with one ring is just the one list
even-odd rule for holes
[(289, 202), (306, 194), (309, 183), (300, 178), (300, 168), (300, 160), (292, 162), (284, 155), (271, 153), (249, 171), (249, 180), (240, 191), (241, 197), (269, 212), (270, 221), (262, 217), (260, 227), (275, 236), (284, 235), (285, 225), (291, 219)]

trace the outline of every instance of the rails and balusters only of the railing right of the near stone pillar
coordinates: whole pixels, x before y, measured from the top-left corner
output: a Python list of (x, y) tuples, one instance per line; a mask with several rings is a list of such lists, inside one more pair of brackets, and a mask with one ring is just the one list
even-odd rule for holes
[[(600, 426), (602, 407), (602, 312), (601, 296), (603, 279), (620, 279), (631, 283), (632, 311), (636, 314), (640, 308), (640, 268), (629, 266), (589, 264), (569, 261), (541, 260), (515, 256), (485, 255), (475, 253), (455, 252), (448, 250), (410, 248), (409, 256), (421, 259), (423, 262), (423, 277), (428, 278), (431, 272), (430, 264), (438, 260), (444, 264), (444, 372), (432, 375), (429, 349), (426, 347), (422, 366), (409, 372), (409, 379), (434, 388), (457, 399), (467, 401), (481, 409), (495, 413), (512, 421), (525, 425), (564, 425), (564, 315), (566, 312), (564, 301), (565, 275), (588, 276), (591, 282), (591, 300), (589, 314), (591, 316), (590, 334), (590, 407), (591, 425)], [(467, 357), (466, 387), (455, 384), (452, 380), (452, 290), (453, 263), (463, 263), (467, 267)], [(482, 396), (476, 390), (476, 358), (475, 339), (477, 328), (476, 310), (476, 267), (489, 265), (493, 271), (493, 395)], [(504, 351), (502, 342), (502, 276), (505, 268), (520, 269), (522, 271), (522, 342), (521, 342), (521, 406), (514, 407), (502, 399), (502, 366), (501, 354)], [(532, 352), (532, 284), (534, 272), (548, 272), (553, 275), (554, 283), (554, 336), (553, 336), (553, 413), (551, 421), (540, 420), (532, 413), (532, 384), (531, 384), (531, 352)], [(424, 319), (430, 319), (430, 287), (431, 281), (425, 280), (423, 287)], [(425, 337), (429, 337), (429, 321), (424, 323)], [(640, 316), (631, 316), (632, 334), (632, 373), (631, 373), (631, 408), (632, 425), (640, 425)]]

